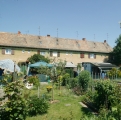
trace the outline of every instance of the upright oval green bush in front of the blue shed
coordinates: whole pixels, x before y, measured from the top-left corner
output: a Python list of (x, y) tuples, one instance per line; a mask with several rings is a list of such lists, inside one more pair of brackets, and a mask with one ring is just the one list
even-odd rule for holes
[(78, 78), (79, 78), (79, 85), (82, 88), (82, 91), (85, 92), (88, 88), (88, 83), (90, 80), (90, 73), (84, 70), (80, 72)]

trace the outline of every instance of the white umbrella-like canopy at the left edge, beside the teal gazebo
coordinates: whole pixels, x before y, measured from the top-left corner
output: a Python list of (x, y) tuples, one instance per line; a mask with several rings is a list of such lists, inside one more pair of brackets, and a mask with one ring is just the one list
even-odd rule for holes
[(14, 63), (11, 59), (0, 60), (0, 68), (9, 72), (14, 72), (14, 69), (17, 72), (20, 72), (20, 67), (16, 63)]

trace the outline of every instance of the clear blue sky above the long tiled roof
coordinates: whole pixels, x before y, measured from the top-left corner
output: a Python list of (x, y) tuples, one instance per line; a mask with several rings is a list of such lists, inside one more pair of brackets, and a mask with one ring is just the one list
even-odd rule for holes
[(0, 32), (103, 42), (121, 34), (121, 0), (0, 0)]

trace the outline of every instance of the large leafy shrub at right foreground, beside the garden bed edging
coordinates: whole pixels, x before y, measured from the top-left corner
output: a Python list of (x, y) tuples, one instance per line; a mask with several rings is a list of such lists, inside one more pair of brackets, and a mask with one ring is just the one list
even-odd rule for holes
[(95, 86), (95, 105), (100, 108), (105, 106), (107, 109), (111, 110), (112, 105), (117, 101), (116, 98), (116, 83), (110, 80), (100, 80)]

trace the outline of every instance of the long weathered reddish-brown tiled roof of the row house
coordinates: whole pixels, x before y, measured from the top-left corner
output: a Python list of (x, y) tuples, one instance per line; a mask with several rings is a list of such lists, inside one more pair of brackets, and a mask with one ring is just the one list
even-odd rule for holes
[(48, 36), (34, 36), (0, 32), (0, 46), (43, 48), (71, 51), (109, 53), (113, 49), (106, 42), (64, 39)]

